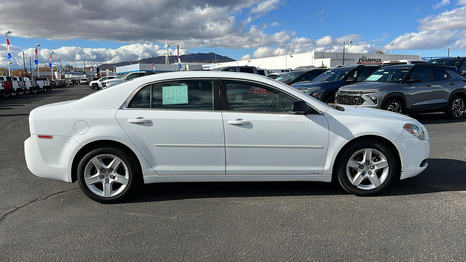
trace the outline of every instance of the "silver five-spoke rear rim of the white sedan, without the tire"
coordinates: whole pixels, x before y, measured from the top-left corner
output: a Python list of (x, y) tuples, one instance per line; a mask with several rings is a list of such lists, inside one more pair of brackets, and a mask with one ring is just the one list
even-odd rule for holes
[(84, 181), (90, 191), (101, 197), (114, 197), (128, 186), (128, 166), (120, 158), (103, 154), (92, 158), (84, 169)]

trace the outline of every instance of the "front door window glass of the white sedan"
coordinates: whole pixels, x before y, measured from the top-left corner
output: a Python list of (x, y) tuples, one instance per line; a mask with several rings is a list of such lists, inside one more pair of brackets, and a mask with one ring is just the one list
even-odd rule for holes
[(228, 106), (232, 111), (291, 112), (297, 99), (274, 88), (258, 83), (225, 80)]

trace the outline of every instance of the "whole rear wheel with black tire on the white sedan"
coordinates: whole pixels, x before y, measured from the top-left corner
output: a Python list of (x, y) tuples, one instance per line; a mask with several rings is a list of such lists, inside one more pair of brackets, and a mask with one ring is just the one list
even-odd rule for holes
[[(109, 164), (112, 161), (113, 157), (122, 160), (122, 164), (117, 167), (117, 170), (103, 169), (99, 171), (101, 175), (96, 177), (97, 167), (90, 161), (96, 158), (102, 159), (102, 163), (104, 164), (102, 168), (108, 168), (110, 167)], [(113, 174), (115, 174), (116, 172), (120, 178), (122, 178), (122, 174), (125, 174), (123, 175), (123, 179), (126, 178), (127, 180), (123, 181), (127, 183), (126, 185), (115, 182), (117, 181), (116, 179), (118, 179), (118, 177), (115, 178)], [(92, 185), (89, 184), (89, 181), (89, 185), (86, 184), (86, 179), (92, 177), (96, 177), (96, 179), (99, 180), (95, 181), (95, 183)], [(103, 146), (88, 152), (79, 162), (77, 169), (77, 178), (82, 191), (90, 199), (104, 204), (116, 203), (129, 197), (138, 186), (140, 177), (141, 174), (139, 173), (139, 168), (136, 160), (129, 154), (125, 153), (123, 150), (110, 146)], [(115, 186), (112, 186), (112, 188), (110, 189), (110, 191), (112, 192), (110, 192), (109, 196), (104, 196), (106, 190), (104, 190), (103, 185), (107, 183), (109, 185), (111, 183), (114, 183), (117, 186), (117, 188), (115, 188)], [(123, 188), (121, 188), (121, 186), (123, 186)], [(112, 196), (111, 193), (116, 194)]]

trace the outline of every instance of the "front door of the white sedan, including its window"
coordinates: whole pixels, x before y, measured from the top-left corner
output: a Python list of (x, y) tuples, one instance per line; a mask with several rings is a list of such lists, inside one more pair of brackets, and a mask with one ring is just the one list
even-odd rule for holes
[(224, 80), (220, 88), (227, 175), (322, 174), (325, 116), (297, 115), (291, 112), (297, 98), (259, 83)]

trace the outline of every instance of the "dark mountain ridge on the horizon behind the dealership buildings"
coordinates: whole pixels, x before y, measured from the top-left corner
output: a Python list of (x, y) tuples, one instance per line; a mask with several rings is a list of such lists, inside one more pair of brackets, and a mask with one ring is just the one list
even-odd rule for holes
[[(215, 62), (215, 53), (197, 53), (197, 54), (189, 54), (189, 55), (180, 55), (179, 59), (181, 62), (185, 63), (208, 63), (211, 61), (211, 63)], [(220, 62), (232, 62), (236, 61), (230, 57), (223, 56), (223, 55), (218, 55), (217, 54), (217, 60), (220, 60)], [(176, 55), (170, 55), (168, 57), (168, 62), (169, 63), (174, 63), (175, 61), (178, 61), (178, 56)], [(139, 61), (131, 61), (131, 64), (136, 64), (136, 63), (145, 63), (145, 64), (151, 64), (152, 63), (152, 57), (149, 58), (144, 58)], [(157, 56), (154, 57), (154, 64), (164, 64), (165, 63), (165, 56)], [(100, 70), (105, 70), (105, 69), (112, 69), (113, 66), (124, 66), (124, 65), (129, 65), (129, 61), (125, 62), (119, 62), (119, 63), (113, 63), (113, 64), (101, 64), (99, 65)]]

